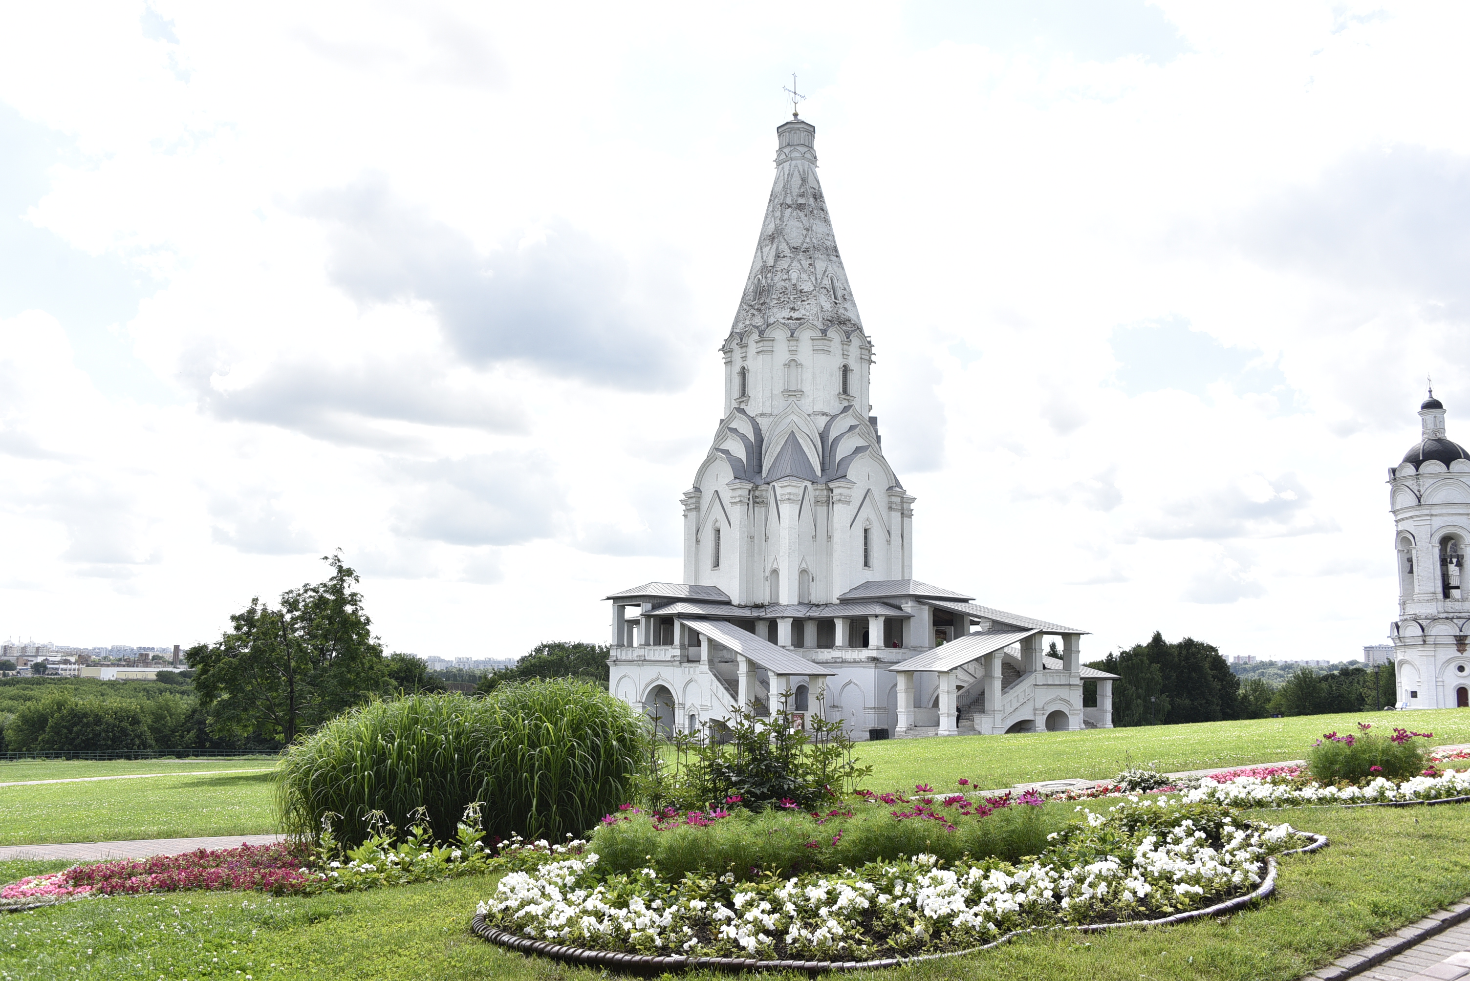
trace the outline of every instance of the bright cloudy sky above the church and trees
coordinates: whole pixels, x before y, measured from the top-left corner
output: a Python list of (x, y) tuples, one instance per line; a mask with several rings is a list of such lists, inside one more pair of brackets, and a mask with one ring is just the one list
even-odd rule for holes
[[(3, 3), (0, 636), (218, 639), (341, 549), (390, 651), (609, 636), (807, 95), (914, 576), (1358, 656), (1470, 441), (1463, 3)], [(1461, 416), (1460, 413), (1464, 413)], [(1463, 421), (1457, 421), (1463, 420)]]

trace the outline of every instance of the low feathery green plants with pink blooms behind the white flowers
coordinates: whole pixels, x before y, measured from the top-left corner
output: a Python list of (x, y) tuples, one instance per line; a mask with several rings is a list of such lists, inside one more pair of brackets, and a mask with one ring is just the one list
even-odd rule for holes
[(950, 831), (941, 821), (895, 819), (891, 809), (857, 803), (853, 817), (826, 817), (820, 824), (800, 811), (735, 811), (707, 825), (666, 822), (666, 830), (639, 814), (598, 827), (588, 850), (597, 853), (600, 868), (632, 872), (653, 866), (670, 881), (691, 871), (734, 872), (741, 880), (789, 877), (920, 853), (945, 862), (964, 855), (1014, 862), (1044, 852), (1047, 834), (1075, 817), (1072, 805), (1017, 805), (983, 818), (960, 818)]

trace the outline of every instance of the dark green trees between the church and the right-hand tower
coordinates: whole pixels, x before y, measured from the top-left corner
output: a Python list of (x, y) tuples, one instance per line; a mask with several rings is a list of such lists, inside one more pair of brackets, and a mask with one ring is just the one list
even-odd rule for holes
[[(1301, 667), (1282, 684), (1272, 684), (1236, 677), (1214, 645), (1194, 637), (1169, 643), (1158, 631), (1148, 643), (1089, 667), (1119, 676), (1113, 683), (1116, 727), (1377, 711), (1394, 703), (1391, 664), (1330, 674)], [(1088, 698), (1095, 698), (1092, 683)]]

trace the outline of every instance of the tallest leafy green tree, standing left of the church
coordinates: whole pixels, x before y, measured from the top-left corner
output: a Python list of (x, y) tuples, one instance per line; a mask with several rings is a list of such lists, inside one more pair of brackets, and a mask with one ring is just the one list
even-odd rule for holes
[(231, 615), (218, 643), (190, 649), (210, 731), (259, 733), (290, 745), (382, 690), (385, 658), (353, 589), (357, 573), (341, 552), (322, 558), (332, 567), (326, 580), (281, 593), (275, 608), (256, 596)]

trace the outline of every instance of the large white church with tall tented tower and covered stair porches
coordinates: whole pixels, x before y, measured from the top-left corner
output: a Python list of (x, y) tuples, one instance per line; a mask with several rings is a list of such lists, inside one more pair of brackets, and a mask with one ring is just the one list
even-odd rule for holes
[(782, 703), (842, 720), (854, 739), (1110, 728), (1116, 676), (1082, 665), (1086, 631), (913, 579), (914, 498), (870, 414), (873, 344), (817, 181), (816, 128), (792, 116), (776, 134), (775, 187), (720, 348), (722, 419), (684, 495), (684, 582), (607, 598), (612, 690), (666, 731)]

